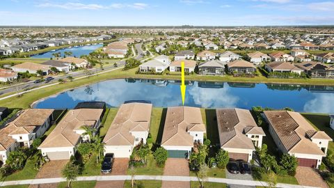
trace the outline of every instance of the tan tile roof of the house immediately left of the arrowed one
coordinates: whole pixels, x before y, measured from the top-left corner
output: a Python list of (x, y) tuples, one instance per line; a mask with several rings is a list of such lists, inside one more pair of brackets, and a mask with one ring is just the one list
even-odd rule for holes
[(148, 132), (151, 112), (152, 104), (122, 104), (103, 142), (106, 146), (134, 146), (134, 136), (131, 132)]

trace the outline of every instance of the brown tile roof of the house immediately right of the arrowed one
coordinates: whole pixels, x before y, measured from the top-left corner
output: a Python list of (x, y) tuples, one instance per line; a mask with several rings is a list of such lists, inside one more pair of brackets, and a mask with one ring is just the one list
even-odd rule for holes
[(253, 129), (255, 129), (253, 133), (260, 133), (260, 135), (264, 135), (264, 132), (261, 127), (257, 127), (250, 111), (246, 109), (216, 109), (216, 116), (222, 148), (255, 150), (253, 142), (244, 132), (250, 132)]

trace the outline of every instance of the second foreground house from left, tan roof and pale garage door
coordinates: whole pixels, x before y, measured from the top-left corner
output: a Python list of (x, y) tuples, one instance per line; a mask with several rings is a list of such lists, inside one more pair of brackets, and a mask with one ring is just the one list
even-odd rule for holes
[(88, 141), (84, 126), (99, 129), (103, 109), (72, 109), (38, 147), (50, 160), (70, 159), (82, 141)]

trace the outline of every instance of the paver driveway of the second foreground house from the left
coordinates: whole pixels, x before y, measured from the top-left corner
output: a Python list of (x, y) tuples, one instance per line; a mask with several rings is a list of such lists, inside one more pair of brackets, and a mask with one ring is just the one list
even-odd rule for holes
[[(56, 160), (47, 162), (42, 166), (35, 178), (61, 178), (61, 170), (69, 160)], [(30, 185), (29, 188), (56, 188), (57, 183)]]

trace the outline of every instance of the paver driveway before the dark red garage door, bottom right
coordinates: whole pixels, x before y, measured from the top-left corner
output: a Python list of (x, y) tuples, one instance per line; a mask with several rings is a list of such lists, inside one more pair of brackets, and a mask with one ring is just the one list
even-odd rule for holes
[(299, 182), (299, 185), (329, 188), (319, 173), (310, 167), (298, 166), (294, 177)]

